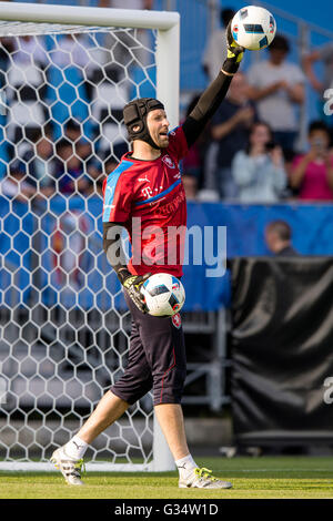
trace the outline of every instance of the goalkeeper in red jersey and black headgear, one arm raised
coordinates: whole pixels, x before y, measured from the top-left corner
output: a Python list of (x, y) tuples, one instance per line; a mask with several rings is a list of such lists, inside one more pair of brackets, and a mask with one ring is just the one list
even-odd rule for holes
[[(168, 264), (169, 257), (163, 260), (170, 227), (186, 225), (185, 195), (178, 165), (219, 108), (239, 69), (244, 49), (233, 41), (230, 27), (226, 38), (228, 58), (182, 126), (168, 133), (169, 121), (158, 100), (139, 99), (124, 106), (124, 123), (133, 150), (124, 154), (104, 181), (103, 247), (124, 287), (132, 316), (129, 362), (123, 376), (102, 397), (79, 432), (52, 454), (51, 461), (70, 484), (82, 484), (82, 458), (94, 438), (153, 389), (154, 411), (179, 469), (179, 487), (232, 487), (212, 477), (208, 469), (198, 468), (188, 448), (181, 408), (186, 361), (180, 316), (148, 315), (140, 294), (141, 285), (152, 273), (182, 276), (182, 241), (176, 244), (175, 262)], [(144, 234), (148, 226), (163, 232), (159, 235), (160, 244), (154, 238), (154, 234), (150, 233), (149, 237)], [(128, 265), (120, 246), (122, 228), (128, 231), (132, 244)], [(153, 249), (154, 257), (149, 253)]]

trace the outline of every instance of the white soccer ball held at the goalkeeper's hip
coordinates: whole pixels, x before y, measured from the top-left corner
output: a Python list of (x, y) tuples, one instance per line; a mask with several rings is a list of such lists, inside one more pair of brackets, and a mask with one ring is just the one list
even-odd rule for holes
[(151, 275), (143, 283), (141, 293), (148, 313), (154, 317), (173, 317), (181, 310), (185, 302), (182, 283), (168, 273)]

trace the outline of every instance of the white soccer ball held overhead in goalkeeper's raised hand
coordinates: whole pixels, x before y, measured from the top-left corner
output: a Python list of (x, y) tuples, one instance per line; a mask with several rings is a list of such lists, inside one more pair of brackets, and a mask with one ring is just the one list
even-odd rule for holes
[(248, 6), (232, 19), (231, 33), (236, 43), (250, 51), (260, 51), (272, 43), (276, 34), (276, 22), (266, 9)]

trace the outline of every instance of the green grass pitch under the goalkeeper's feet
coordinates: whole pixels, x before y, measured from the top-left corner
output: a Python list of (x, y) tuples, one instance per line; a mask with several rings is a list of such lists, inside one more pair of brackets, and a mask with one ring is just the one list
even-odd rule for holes
[(332, 458), (196, 458), (231, 490), (179, 489), (178, 473), (85, 473), (85, 486), (64, 484), (60, 473), (0, 472), (7, 499), (333, 499)]

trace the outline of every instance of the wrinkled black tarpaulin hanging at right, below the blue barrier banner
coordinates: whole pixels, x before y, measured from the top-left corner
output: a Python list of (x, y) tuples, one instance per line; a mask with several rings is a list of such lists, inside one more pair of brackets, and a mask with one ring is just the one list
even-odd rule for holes
[(238, 258), (231, 273), (235, 440), (333, 445), (333, 403), (324, 399), (333, 377), (333, 258)]

